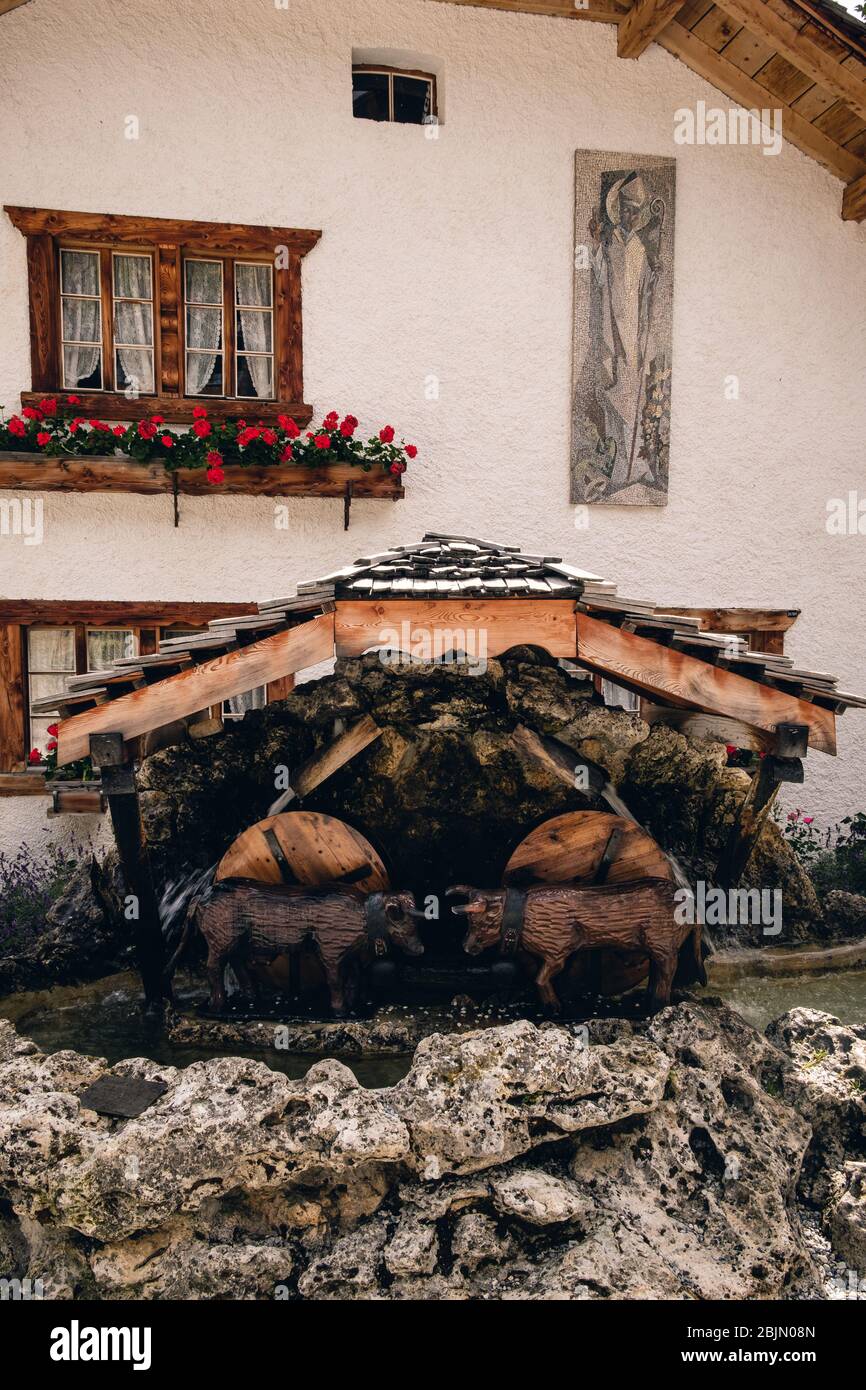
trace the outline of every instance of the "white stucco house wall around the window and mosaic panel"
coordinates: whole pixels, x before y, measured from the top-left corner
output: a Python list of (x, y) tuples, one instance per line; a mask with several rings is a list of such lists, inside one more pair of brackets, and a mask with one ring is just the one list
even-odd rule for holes
[[(674, 146), (677, 107), (724, 100), (659, 47), (617, 60), (606, 25), (431, 0), (32, 0), (0, 26), (1, 200), (322, 228), (306, 398), (420, 448), (406, 500), (356, 503), (349, 535), (335, 500), (291, 502), (277, 531), (272, 500), (182, 499), (174, 530), (168, 499), (46, 493), (44, 543), (0, 541), (0, 592), (263, 599), (450, 530), (659, 602), (802, 607), (794, 657), (866, 688), (866, 537), (824, 525), (828, 498), (866, 496), (866, 227), (817, 164)], [(353, 49), (435, 57), (436, 140), (352, 118)], [(578, 147), (676, 154), (678, 178), (670, 503), (595, 507), (588, 530), (569, 503)], [(17, 409), (25, 246), (6, 218), (0, 296)], [(798, 792), (824, 819), (866, 808), (866, 712), (840, 735)]]

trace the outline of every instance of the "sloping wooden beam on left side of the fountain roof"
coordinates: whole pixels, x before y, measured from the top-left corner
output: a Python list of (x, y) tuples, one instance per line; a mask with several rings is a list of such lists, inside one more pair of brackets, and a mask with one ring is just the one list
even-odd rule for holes
[(124, 739), (161, 728), (174, 720), (218, 705), (232, 695), (279, 680), (334, 655), (334, 614), (322, 613), (309, 623), (274, 632), (260, 642), (217, 656), (202, 666), (178, 671), (168, 680), (131, 691), (96, 709), (75, 714), (60, 726), (58, 766), (89, 753), (90, 737), (106, 731)]

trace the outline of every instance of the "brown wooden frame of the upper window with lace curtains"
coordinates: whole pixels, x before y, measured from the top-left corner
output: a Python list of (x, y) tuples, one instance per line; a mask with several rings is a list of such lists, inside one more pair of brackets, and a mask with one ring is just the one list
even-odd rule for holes
[[(68, 213), (42, 207), (6, 207), (14, 227), (26, 238), (31, 304), (31, 391), (21, 392), (21, 404), (32, 406), (57, 396), (64, 414), (95, 416), (101, 420), (142, 420), (161, 414), (171, 423), (192, 421), (196, 406), (204, 404), (211, 420), (254, 416), (272, 423), (291, 416), (297, 425), (309, 424), (313, 410), (303, 400), (303, 314), (302, 261), (318, 242), (320, 231), (291, 227), (242, 227), (238, 224), (193, 222), (164, 217), (122, 217), (113, 213)], [(60, 249), (99, 250), (103, 267), (103, 384), (114, 384), (113, 281), (106, 286), (104, 265), (111, 270), (111, 252), (153, 257), (154, 386), (150, 396), (129, 399), (114, 389), (81, 392), (70, 406), (61, 385)], [(282, 250), (285, 249), (285, 250)], [(272, 267), (274, 314), (274, 400), (250, 396), (186, 396), (183, 260), (268, 261)], [(231, 277), (234, 286), (234, 277)], [(234, 299), (234, 288), (232, 288)], [(234, 348), (234, 303), (224, 286), (224, 317), (231, 320)], [(111, 352), (108, 352), (108, 342)], [(228, 360), (229, 338), (224, 352)], [(110, 374), (106, 373), (106, 364)], [(235, 363), (231, 360), (231, 385)]]

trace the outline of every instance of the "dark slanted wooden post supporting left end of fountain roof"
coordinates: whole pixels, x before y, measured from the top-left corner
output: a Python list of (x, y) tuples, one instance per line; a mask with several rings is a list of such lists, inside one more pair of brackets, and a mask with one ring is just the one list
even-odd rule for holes
[(90, 759), (101, 770), (103, 792), (111, 813), (126, 892), (136, 899), (135, 949), (145, 1002), (149, 1009), (161, 1009), (168, 994), (164, 981), (163, 923), (150, 873), (135, 770), (124, 751), (122, 734), (92, 734)]

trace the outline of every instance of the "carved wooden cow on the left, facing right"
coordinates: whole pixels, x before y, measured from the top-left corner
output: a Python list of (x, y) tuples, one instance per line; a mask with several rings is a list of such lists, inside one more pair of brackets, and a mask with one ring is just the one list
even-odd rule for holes
[(389, 942), (406, 955), (423, 955), (413, 920), (423, 916), (410, 892), (364, 897), (339, 884), (296, 888), (225, 878), (209, 898), (190, 902), (183, 938), (170, 969), (183, 949), (190, 924), (197, 923), (207, 942), (210, 1005), (221, 1011), (225, 1008), (227, 965), (247, 990), (252, 986), (249, 960), (275, 960), (309, 941), (325, 973), (331, 1011), (341, 1017), (346, 1012), (346, 963), (364, 954), (385, 955)]

